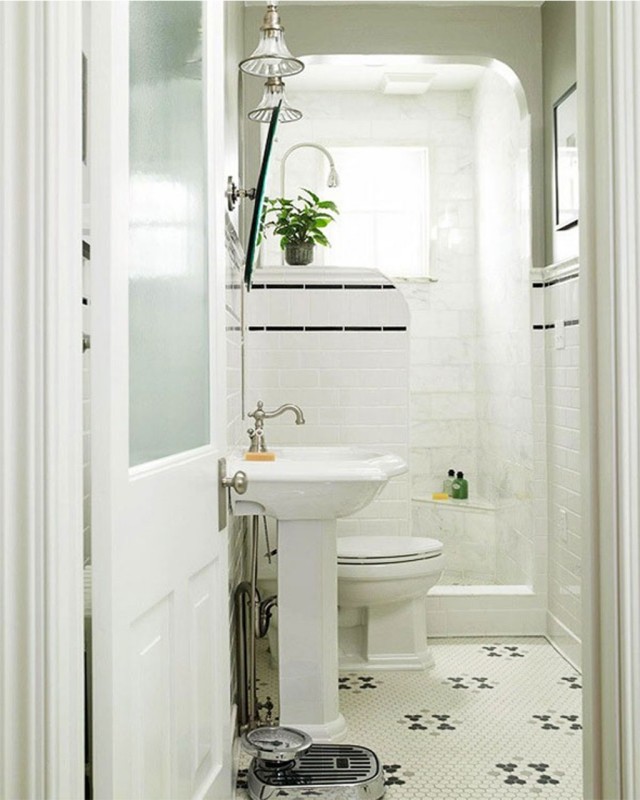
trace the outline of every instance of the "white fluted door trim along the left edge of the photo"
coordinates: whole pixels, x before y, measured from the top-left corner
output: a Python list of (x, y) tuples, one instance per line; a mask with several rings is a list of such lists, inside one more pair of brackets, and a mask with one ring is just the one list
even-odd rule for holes
[(0, 796), (83, 796), (80, 4), (0, 4)]

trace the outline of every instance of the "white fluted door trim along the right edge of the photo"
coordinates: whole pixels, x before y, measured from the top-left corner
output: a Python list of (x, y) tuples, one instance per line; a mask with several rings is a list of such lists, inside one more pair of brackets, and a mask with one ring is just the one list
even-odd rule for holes
[(640, 6), (578, 3), (585, 797), (640, 797)]

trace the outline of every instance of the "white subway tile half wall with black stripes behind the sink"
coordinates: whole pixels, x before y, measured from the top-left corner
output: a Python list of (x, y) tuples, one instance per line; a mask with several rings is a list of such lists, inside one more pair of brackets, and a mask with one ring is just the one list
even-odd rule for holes
[[(247, 405), (296, 403), (306, 419), (268, 420), (268, 447), (358, 445), (408, 458), (409, 316), (387, 278), (364, 269), (258, 270), (246, 310)], [(408, 475), (338, 520), (339, 535), (410, 530)]]

